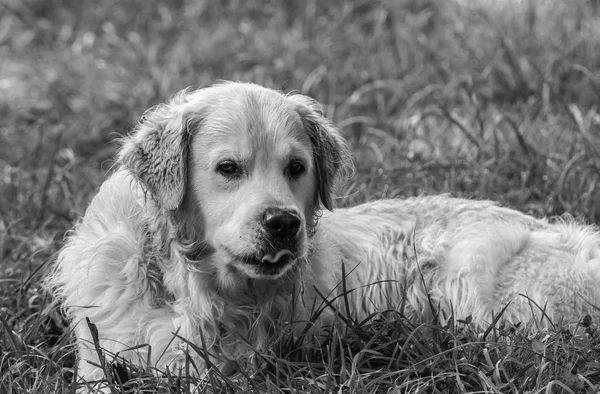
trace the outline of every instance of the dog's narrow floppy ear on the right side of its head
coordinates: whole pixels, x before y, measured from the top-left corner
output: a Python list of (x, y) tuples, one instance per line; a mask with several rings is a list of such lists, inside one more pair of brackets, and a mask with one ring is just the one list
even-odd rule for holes
[(319, 103), (299, 94), (288, 97), (298, 104), (296, 111), (313, 145), (318, 198), (325, 208), (332, 210), (334, 187), (352, 170), (346, 140), (340, 130), (325, 118)]

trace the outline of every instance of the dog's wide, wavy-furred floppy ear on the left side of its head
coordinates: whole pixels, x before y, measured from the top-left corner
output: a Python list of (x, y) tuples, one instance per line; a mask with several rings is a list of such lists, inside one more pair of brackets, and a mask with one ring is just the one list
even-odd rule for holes
[(168, 104), (149, 109), (118, 155), (121, 165), (169, 210), (179, 207), (187, 184), (190, 132), (185, 97), (182, 92)]

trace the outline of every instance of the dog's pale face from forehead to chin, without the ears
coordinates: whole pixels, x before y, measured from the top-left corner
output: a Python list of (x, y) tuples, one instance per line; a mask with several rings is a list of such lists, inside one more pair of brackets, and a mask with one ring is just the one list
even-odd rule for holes
[(189, 180), (218, 264), (276, 277), (307, 252), (316, 174), (309, 135), (275, 92), (227, 100), (192, 139)]

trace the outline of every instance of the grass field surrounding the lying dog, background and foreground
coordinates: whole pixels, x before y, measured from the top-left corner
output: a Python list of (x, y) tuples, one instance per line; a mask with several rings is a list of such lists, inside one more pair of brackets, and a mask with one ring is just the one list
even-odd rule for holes
[[(150, 5), (152, 4), (152, 5)], [(338, 205), (450, 192), (600, 222), (597, 0), (0, 0), (0, 392), (74, 392), (40, 286), (113, 163), (115, 137), (217, 79), (297, 90), (345, 132)], [(587, 393), (598, 316), (536, 329), (394, 313), (207, 392)], [(120, 386), (120, 385), (117, 385)], [(123, 387), (191, 392), (174, 376)]]

